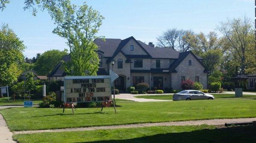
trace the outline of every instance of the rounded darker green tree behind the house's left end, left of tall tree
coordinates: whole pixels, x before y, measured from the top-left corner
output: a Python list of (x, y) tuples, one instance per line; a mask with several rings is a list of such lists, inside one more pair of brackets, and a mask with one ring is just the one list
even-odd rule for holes
[(67, 55), (67, 49), (63, 51), (47, 50), (35, 62), (36, 73), (38, 75), (48, 75), (64, 55)]

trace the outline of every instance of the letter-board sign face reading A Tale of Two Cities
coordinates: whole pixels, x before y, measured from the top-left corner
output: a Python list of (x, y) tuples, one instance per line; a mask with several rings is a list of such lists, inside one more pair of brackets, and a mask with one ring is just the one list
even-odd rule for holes
[(111, 76), (65, 76), (64, 102), (111, 101), (111, 81)]

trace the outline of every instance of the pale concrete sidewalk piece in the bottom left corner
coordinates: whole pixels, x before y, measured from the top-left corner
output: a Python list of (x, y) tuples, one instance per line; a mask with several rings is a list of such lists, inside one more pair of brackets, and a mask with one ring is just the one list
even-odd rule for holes
[(0, 114), (0, 143), (16, 143), (12, 140), (12, 132), (10, 132), (6, 121), (3, 119), (2, 114)]

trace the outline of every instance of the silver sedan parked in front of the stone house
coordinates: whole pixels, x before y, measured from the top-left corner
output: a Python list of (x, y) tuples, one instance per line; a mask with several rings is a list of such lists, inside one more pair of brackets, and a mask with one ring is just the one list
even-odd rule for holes
[(177, 100), (204, 100), (214, 99), (213, 95), (205, 94), (198, 90), (183, 90), (173, 95), (173, 101)]

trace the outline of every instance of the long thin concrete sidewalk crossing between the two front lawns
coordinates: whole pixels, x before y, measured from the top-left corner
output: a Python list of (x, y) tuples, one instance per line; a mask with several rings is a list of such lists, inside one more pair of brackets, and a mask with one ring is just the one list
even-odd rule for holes
[(49, 129), (49, 130), (35, 130), (35, 131), (17, 131), (14, 134), (32, 134), (42, 132), (76, 132), (76, 131), (91, 131), (98, 129), (123, 129), (123, 128), (141, 128), (150, 126), (191, 126), (191, 125), (224, 125), (225, 123), (237, 122), (252, 122), (256, 118), (238, 118), (238, 119), (212, 119), (212, 120), (197, 120), (197, 121), (176, 121), (176, 122), (160, 122), (160, 123), (137, 123), (130, 125), (117, 125), (117, 126), (93, 126), (84, 128), (67, 128), (67, 129)]

